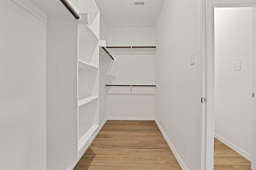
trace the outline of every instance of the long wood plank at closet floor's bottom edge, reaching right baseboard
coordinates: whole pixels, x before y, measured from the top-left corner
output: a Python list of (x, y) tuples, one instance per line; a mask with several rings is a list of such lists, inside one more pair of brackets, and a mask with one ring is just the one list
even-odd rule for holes
[(161, 164), (114, 164), (108, 163), (106, 170), (182, 170), (180, 165)]

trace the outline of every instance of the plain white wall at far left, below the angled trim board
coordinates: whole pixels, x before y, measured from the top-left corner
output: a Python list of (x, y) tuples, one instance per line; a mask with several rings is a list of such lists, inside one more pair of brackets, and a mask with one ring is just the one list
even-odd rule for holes
[(46, 169), (46, 24), (0, 0), (0, 169)]

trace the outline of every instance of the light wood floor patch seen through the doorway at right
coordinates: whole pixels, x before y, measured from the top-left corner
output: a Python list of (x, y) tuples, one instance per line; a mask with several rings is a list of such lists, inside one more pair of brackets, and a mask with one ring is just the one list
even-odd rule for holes
[(214, 170), (251, 170), (251, 162), (214, 138)]

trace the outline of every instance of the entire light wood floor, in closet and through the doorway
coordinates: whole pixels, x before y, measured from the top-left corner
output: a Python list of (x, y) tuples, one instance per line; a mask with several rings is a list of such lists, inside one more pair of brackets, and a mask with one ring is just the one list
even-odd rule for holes
[[(74, 170), (182, 170), (154, 121), (107, 121)], [(214, 170), (250, 161), (214, 139)]]

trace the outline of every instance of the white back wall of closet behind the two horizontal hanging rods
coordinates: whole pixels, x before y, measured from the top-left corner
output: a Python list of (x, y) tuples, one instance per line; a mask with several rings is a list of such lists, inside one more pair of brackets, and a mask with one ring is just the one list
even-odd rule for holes
[[(108, 28), (107, 45), (154, 45), (154, 28)], [(154, 84), (155, 54), (112, 53), (117, 61), (105, 65), (107, 84)], [(107, 114), (112, 118), (154, 117), (155, 89), (107, 87)]]

